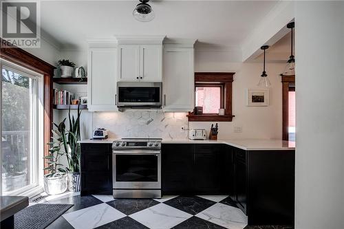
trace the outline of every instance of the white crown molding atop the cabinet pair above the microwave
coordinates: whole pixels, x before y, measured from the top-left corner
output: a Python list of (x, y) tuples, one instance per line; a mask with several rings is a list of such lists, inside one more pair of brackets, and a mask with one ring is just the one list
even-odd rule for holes
[(119, 45), (162, 45), (166, 35), (117, 35), (115, 36)]

